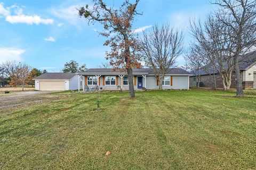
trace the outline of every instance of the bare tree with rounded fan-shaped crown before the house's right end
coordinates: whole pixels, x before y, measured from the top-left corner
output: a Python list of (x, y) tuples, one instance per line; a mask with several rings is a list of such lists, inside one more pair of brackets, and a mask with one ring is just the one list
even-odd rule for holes
[(167, 23), (161, 27), (155, 25), (149, 32), (143, 32), (141, 48), (146, 66), (153, 69), (162, 89), (167, 69), (183, 51), (182, 31), (174, 30)]

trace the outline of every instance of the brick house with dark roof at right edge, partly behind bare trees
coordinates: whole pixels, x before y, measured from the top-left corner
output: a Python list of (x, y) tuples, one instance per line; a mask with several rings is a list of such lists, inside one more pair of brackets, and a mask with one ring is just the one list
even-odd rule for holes
[[(243, 88), (244, 89), (256, 89), (256, 62), (247, 62), (247, 63), (241, 64), (241, 66), (239, 66), (239, 68), (241, 71)], [(200, 80), (201, 86), (214, 87), (213, 79), (211, 78), (211, 76), (213, 76), (213, 74), (214, 74), (217, 87), (223, 88), (222, 79), (218, 72), (216, 72), (214, 70), (210, 70), (210, 74), (209, 74), (202, 69), (202, 70), (199, 70), (198, 74), (201, 75), (201, 80)], [(198, 82), (197, 82), (196, 75), (190, 76), (190, 84), (189, 84), (190, 87), (196, 86), (197, 83)], [(230, 87), (233, 87), (233, 88), (236, 87), (236, 76), (235, 76), (234, 71), (232, 72), (232, 75), (231, 75), (231, 86)]]

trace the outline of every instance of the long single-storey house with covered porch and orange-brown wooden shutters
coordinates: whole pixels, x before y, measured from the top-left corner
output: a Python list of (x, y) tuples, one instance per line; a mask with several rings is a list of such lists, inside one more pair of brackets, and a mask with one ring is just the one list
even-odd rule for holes
[[(88, 69), (77, 73), (83, 79), (83, 88), (93, 88), (97, 85), (103, 90), (129, 90), (128, 77), (125, 72), (113, 69)], [(135, 90), (142, 88), (157, 89), (159, 82), (150, 68), (133, 69), (133, 85)], [(180, 69), (168, 69), (163, 81), (163, 89), (189, 89), (190, 73)]]

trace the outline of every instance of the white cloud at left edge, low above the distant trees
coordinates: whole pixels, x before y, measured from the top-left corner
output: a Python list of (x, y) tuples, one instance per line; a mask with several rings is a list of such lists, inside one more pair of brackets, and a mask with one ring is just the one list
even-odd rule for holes
[(25, 50), (12, 47), (0, 47), (0, 63), (8, 60), (21, 61), (21, 55), (25, 53)]

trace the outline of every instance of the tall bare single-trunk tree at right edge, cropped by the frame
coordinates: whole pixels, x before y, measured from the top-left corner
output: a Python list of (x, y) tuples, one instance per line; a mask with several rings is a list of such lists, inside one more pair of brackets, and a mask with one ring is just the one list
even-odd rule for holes
[[(215, 13), (218, 22), (228, 31), (227, 36), (234, 46), (229, 49), (236, 73), (236, 96), (243, 96), (243, 85), (239, 63), (243, 54), (255, 48), (256, 44), (256, 1), (255, 0), (214, 0), (219, 6)], [(230, 34), (231, 33), (231, 34)]]

